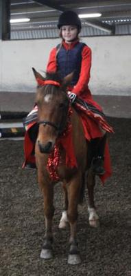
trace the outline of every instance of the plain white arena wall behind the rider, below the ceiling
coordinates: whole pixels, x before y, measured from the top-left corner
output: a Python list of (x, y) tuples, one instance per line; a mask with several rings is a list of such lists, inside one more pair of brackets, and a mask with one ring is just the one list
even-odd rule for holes
[[(131, 95), (131, 37), (86, 37), (93, 52), (93, 94)], [(49, 52), (60, 39), (0, 41), (0, 92), (34, 92), (32, 67), (45, 70)]]

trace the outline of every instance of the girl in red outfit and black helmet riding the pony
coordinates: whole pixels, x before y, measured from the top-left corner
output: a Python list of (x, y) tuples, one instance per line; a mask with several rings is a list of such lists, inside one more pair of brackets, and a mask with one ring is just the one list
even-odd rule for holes
[[(112, 132), (112, 128), (106, 122), (102, 108), (93, 100), (91, 91), (88, 89), (91, 70), (91, 48), (80, 42), (78, 34), (82, 28), (81, 21), (73, 11), (66, 11), (60, 15), (58, 21), (61, 43), (51, 50), (47, 63), (47, 72), (60, 72), (64, 78), (74, 72), (71, 85), (69, 86), (69, 98), (74, 108), (82, 119), (85, 137), (91, 141), (92, 165), (95, 174), (104, 175), (104, 152), (106, 145), (106, 131)], [(32, 114), (37, 116), (37, 107), (34, 112), (27, 116), (32, 121)], [(26, 124), (25, 121), (25, 124)], [(29, 139), (35, 141), (34, 127), (28, 128), (28, 152)], [(26, 141), (25, 141), (26, 144)], [(25, 146), (27, 148), (27, 146)], [(34, 163), (33, 155), (25, 161), (26, 166)]]

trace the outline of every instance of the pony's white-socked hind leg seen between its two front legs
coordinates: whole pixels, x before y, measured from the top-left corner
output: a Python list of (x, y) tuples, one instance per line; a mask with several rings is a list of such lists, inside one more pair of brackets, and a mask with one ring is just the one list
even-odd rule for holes
[(65, 229), (67, 228), (67, 224), (69, 224), (69, 219), (67, 217), (67, 209), (68, 209), (68, 195), (67, 195), (67, 187), (66, 184), (62, 184), (62, 188), (64, 191), (64, 210), (62, 211), (62, 217), (60, 219), (59, 228)]

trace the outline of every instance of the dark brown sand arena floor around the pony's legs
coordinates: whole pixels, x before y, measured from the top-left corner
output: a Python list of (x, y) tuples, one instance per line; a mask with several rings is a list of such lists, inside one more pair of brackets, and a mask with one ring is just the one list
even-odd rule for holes
[(67, 264), (69, 229), (58, 230), (62, 188), (55, 188), (54, 258), (40, 259), (43, 245), (43, 197), (36, 171), (23, 170), (23, 141), (0, 141), (0, 275), (130, 276), (131, 119), (109, 118), (113, 175), (102, 187), (97, 179), (95, 202), (101, 225), (88, 226), (87, 197), (80, 207), (78, 242), (82, 264)]

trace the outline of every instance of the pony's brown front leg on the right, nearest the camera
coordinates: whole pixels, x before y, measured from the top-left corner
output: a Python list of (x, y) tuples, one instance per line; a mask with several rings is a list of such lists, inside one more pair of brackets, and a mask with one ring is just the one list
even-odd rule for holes
[(69, 237), (69, 256), (68, 264), (80, 264), (80, 253), (78, 250), (78, 243), (76, 240), (76, 224), (78, 218), (78, 202), (80, 198), (80, 185), (81, 178), (77, 177), (71, 181), (68, 186), (68, 199), (69, 206), (67, 210), (67, 216), (70, 224), (70, 237)]

